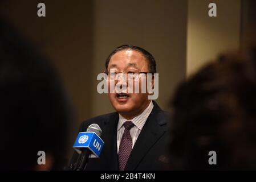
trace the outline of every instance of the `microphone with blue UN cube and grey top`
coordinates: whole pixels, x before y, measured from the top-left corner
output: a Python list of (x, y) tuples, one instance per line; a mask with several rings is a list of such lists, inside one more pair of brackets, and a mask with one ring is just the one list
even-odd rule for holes
[(86, 132), (80, 132), (74, 143), (74, 150), (78, 152), (78, 163), (76, 171), (84, 171), (86, 169), (88, 158), (99, 158), (104, 146), (103, 140), (100, 138), (101, 129), (97, 124), (88, 126)]

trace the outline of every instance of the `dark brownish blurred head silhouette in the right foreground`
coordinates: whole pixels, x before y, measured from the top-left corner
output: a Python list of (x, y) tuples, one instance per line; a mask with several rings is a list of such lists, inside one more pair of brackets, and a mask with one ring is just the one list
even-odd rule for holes
[(171, 106), (172, 169), (256, 169), (256, 47), (206, 65), (178, 87)]

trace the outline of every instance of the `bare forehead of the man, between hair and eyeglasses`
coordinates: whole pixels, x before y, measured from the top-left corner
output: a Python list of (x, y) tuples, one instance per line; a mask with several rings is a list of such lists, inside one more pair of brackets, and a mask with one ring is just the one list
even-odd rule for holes
[(116, 52), (109, 61), (108, 68), (137, 68), (147, 69), (148, 60), (145, 58), (143, 53), (132, 49), (124, 49)]

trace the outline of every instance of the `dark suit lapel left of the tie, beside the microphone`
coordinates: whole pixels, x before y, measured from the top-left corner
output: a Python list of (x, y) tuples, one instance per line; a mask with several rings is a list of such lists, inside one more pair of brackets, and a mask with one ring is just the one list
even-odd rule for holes
[(113, 113), (109, 120), (105, 122), (105, 158), (107, 159), (107, 166), (109, 170), (119, 170), (117, 159), (117, 146), (116, 146), (116, 131), (119, 114)]

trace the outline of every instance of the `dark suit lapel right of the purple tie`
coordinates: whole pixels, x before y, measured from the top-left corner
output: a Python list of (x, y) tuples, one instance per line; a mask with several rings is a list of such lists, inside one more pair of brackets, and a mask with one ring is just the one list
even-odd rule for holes
[(165, 131), (161, 125), (164, 125), (166, 121), (161, 117), (162, 110), (154, 103), (154, 108), (149, 115), (139, 137), (136, 140), (135, 146), (128, 159), (125, 170), (135, 170), (137, 165), (141, 162), (143, 157), (147, 154), (150, 148), (164, 135)]

